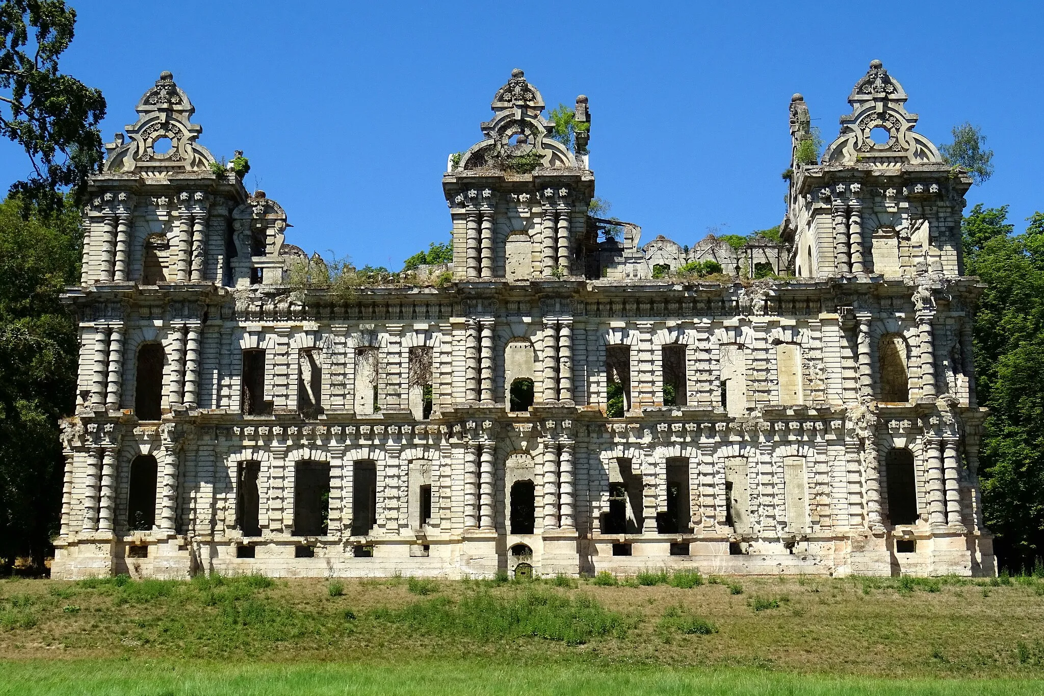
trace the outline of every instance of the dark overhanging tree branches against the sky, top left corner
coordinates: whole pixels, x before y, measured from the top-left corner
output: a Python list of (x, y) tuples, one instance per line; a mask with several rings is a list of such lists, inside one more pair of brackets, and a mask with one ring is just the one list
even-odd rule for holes
[[(74, 34), (76, 11), (63, 0), (0, 3), (0, 134), (21, 145), (32, 174), (10, 187), (22, 215), (61, 213), (62, 189), (81, 200), (87, 177), (103, 159), (101, 92), (58, 72)], [(35, 206), (35, 211), (31, 211)]]

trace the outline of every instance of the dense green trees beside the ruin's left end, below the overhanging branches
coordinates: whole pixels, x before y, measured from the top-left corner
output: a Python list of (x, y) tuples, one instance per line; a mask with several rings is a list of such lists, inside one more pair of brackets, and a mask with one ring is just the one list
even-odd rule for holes
[(46, 219), (0, 203), (0, 558), (42, 567), (57, 531), (64, 458), (57, 421), (73, 409), (78, 341), (58, 299), (79, 280), (79, 215)]

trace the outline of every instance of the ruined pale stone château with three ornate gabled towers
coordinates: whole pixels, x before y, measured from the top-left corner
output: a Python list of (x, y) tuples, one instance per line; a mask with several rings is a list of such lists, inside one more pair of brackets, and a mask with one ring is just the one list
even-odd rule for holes
[(690, 249), (588, 214), (588, 100), (566, 147), (517, 70), (452, 281), (346, 294), (163, 73), (84, 210), (53, 576), (993, 574), (971, 179), (905, 102), (872, 63), (818, 159), (794, 95), (782, 241)]

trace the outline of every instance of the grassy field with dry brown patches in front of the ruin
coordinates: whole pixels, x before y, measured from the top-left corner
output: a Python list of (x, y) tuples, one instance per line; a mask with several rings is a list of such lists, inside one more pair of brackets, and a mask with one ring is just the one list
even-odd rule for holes
[(0, 694), (1037, 694), (1044, 579), (7, 580), (0, 656)]

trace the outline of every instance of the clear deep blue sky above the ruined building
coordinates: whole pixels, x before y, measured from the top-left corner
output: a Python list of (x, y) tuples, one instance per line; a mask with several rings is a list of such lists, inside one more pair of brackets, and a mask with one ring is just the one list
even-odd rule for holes
[[(286, 209), (288, 241), (359, 265), (448, 238), (447, 154), (480, 139), (516, 67), (550, 106), (590, 97), (597, 195), (643, 241), (779, 223), (790, 95), (829, 142), (873, 58), (936, 144), (965, 120), (989, 137), (996, 173), (969, 206), (1010, 203), (1020, 230), (1044, 210), (1039, 2), (72, 4), (63, 68), (103, 91), (106, 140), (170, 70), (200, 142), (244, 150), (247, 188)], [(0, 143), (0, 183), (25, 171)]]

